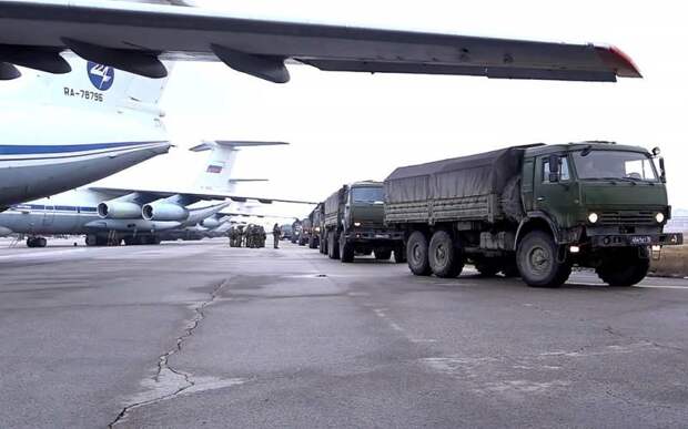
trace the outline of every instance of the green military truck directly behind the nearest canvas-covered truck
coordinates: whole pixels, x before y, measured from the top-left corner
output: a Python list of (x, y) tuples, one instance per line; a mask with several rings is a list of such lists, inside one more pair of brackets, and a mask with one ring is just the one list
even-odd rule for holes
[(404, 234), (384, 225), (383, 184), (356, 182), (342, 186), (324, 204), (324, 236), (327, 256), (343, 263), (356, 254), (405, 262)]

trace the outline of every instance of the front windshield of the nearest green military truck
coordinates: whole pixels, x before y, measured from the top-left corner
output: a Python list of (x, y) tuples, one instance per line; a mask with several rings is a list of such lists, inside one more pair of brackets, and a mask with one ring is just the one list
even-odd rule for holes
[(652, 160), (640, 152), (574, 152), (578, 178), (657, 182)]

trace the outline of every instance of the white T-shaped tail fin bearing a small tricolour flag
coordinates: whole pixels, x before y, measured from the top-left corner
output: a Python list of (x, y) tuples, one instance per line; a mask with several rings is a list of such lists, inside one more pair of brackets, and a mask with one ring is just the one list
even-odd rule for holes
[(236, 155), (242, 147), (280, 146), (283, 142), (247, 142), (247, 141), (204, 141), (191, 147), (192, 152), (210, 151), (204, 170), (196, 178), (195, 187), (210, 192), (234, 192), (241, 182), (264, 182), (264, 178), (233, 178), (232, 171), (236, 163)]

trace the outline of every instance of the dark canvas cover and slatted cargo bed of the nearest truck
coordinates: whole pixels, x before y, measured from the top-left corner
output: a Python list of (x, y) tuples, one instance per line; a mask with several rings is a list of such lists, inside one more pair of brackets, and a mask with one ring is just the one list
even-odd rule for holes
[(384, 184), (386, 221), (494, 221), (506, 184), (520, 173), (525, 147), (396, 168)]

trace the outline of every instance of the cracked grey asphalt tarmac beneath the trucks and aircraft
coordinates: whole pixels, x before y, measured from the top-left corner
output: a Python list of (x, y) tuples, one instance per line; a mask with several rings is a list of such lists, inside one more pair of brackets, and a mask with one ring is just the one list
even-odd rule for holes
[(688, 280), (0, 245), (1, 428), (685, 428)]

